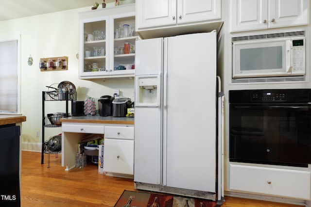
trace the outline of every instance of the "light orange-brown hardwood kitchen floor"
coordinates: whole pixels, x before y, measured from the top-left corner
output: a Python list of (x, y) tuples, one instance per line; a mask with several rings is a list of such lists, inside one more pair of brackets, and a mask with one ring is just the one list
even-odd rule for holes
[[(113, 207), (123, 190), (136, 191), (133, 180), (98, 174), (88, 164), (69, 172), (61, 155), (51, 155), (51, 168), (41, 165), (41, 153), (22, 152), (21, 207)], [(225, 197), (223, 207), (301, 207), (289, 204)]]

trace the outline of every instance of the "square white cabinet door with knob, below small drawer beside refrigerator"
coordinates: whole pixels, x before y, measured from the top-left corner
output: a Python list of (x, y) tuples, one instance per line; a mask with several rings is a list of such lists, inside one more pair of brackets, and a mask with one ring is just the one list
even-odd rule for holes
[(104, 171), (134, 175), (134, 140), (104, 140)]

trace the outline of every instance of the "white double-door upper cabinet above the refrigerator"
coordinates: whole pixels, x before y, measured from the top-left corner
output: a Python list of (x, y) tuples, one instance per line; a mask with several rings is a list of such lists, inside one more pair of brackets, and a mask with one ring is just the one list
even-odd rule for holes
[(221, 18), (221, 0), (136, 0), (137, 30)]

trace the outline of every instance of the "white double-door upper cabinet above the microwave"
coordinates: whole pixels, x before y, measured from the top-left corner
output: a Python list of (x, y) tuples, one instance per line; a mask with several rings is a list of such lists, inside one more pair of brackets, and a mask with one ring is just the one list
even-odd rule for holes
[(309, 24), (310, 0), (231, 0), (231, 32)]

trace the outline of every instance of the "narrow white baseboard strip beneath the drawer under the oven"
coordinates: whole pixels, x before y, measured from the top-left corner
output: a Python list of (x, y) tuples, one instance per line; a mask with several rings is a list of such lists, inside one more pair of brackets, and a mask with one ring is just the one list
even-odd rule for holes
[[(267, 195), (258, 195), (258, 194), (248, 194), (242, 192), (233, 192), (233, 191), (225, 191), (225, 196), (238, 197), (238, 198), (248, 198), (262, 201), (270, 201), (277, 203), (285, 203), (285, 204), (294, 204), (299, 206), (311, 207), (310, 201), (284, 198), (284, 197), (275, 197), (275, 196), (267, 196)], [(309, 206), (308, 206), (309, 202)]]

